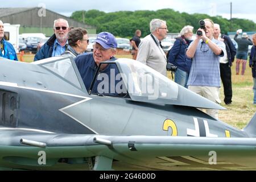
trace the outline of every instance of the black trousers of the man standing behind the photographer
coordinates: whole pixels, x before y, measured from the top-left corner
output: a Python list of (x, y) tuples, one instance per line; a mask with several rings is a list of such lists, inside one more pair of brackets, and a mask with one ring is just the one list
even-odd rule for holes
[(224, 102), (225, 104), (230, 104), (232, 102), (232, 81), (231, 81), (231, 68), (229, 63), (220, 63), (220, 74), (221, 81), (224, 87)]

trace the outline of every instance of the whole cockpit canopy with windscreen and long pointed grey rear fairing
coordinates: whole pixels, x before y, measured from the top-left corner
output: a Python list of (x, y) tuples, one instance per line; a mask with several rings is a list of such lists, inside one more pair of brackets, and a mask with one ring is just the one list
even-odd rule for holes
[[(99, 97), (118, 97), (139, 102), (155, 104), (172, 104), (199, 108), (224, 109), (214, 102), (176, 84), (168, 77), (154, 69), (132, 59), (114, 59), (102, 62), (88, 88), (82, 81), (73, 57), (50, 57), (32, 64), (53, 73), (56, 77), (42, 72), (40, 80), (46, 89), (69, 94), (94, 95)], [(100, 71), (102, 65), (108, 64), (109, 74)], [(48, 79), (51, 79), (48, 82)], [(54, 79), (54, 80), (53, 80)], [(28, 82), (26, 82), (28, 84)], [(40, 86), (39, 82), (36, 85)], [(200, 100), (199, 100), (200, 98)]]

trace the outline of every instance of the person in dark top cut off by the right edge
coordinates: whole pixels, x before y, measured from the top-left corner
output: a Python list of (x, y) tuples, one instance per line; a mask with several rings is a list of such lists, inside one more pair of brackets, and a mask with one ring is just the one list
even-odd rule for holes
[(253, 47), (251, 47), (251, 54), (249, 59), (249, 65), (251, 67), (251, 72), (253, 73), (253, 104), (256, 104), (256, 34), (253, 34)]

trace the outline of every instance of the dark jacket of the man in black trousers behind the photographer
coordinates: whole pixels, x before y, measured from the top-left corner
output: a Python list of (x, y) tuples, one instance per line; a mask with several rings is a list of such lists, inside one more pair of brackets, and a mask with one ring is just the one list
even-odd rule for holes
[(224, 43), (226, 46), (226, 53), (229, 60), (229, 67), (232, 66), (232, 63), (234, 61), (234, 58), (237, 53), (236, 47), (234, 47), (234, 44), (232, 43), (232, 40), (227, 35), (221, 35), (221, 38), (224, 39)]

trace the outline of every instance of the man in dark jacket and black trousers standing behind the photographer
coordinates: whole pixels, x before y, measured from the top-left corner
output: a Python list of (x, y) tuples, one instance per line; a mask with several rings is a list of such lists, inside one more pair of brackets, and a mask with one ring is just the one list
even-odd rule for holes
[(226, 105), (229, 105), (232, 103), (231, 67), (237, 50), (229, 36), (221, 34), (220, 25), (217, 23), (214, 23), (213, 37), (216, 40), (224, 42), (226, 46), (226, 49), (224, 50), (224, 56), (220, 57), (220, 75), (224, 88), (224, 102)]

